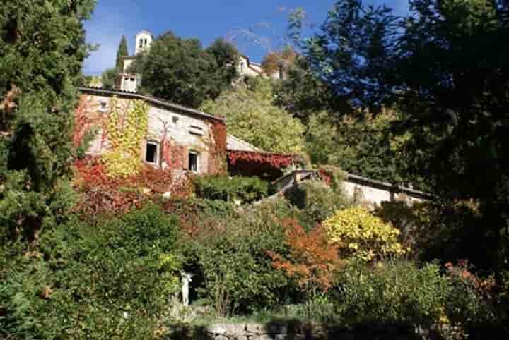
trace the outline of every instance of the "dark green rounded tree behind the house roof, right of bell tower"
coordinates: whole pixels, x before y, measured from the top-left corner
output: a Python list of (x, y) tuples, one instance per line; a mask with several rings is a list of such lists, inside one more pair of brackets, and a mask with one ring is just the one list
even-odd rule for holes
[(172, 32), (139, 54), (131, 71), (142, 75), (142, 91), (189, 107), (199, 107), (223, 89), (214, 56), (202, 49), (199, 40), (182, 39)]

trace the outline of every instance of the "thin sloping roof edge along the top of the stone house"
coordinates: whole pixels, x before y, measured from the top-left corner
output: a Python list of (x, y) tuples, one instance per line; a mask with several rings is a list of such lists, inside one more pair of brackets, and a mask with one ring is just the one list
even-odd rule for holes
[(199, 111), (197, 109), (183, 107), (182, 105), (168, 102), (164, 99), (151, 97), (151, 96), (147, 96), (147, 95), (141, 95), (136, 92), (120, 91), (120, 90), (105, 90), (100, 87), (86, 87), (86, 86), (78, 87), (78, 90), (80, 90), (81, 92), (93, 93), (93, 94), (98, 94), (98, 95), (111, 95), (111, 96), (127, 97), (127, 98), (133, 98), (133, 99), (141, 99), (141, 100), (145, 100), (146, 102), (149, 102), (151, 104), (160, 105), (160, 106), (166, 107), (168, 109), (178, 110), (178, 111), (181, 111), (186, 114), (199, 116), (201, 118), (215, 119), (216, 121), (223, 121), (223, 122), (225, 121), (224, 117), (214, 116), (212, 114), (206, 114), (205, 112)]

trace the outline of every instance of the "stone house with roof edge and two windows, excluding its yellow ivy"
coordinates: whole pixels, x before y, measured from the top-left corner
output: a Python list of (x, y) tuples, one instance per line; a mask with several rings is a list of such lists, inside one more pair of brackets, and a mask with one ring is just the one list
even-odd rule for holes
[(87, 154), (100, 156), (110, 150), (107, 123), (115, 98), (121, 114), (135, 100), (148, 104), (147, 130), (140, 162), (156, 169), (192, 171), (196, 174), (220, 174), (226, 171), (225, 119), (134, 92), (80, 87), (76, 109), (75, 144), (94, 130), (95, 137)]

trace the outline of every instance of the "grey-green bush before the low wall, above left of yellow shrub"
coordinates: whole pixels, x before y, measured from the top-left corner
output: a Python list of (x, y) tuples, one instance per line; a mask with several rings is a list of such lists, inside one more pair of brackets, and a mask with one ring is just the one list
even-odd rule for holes
[(285, 198), (303, 210), (310, 224), (320, 224), (349, 202), (341, 190), (333, 190), (322, 181), (303, 181), (289, 189)]

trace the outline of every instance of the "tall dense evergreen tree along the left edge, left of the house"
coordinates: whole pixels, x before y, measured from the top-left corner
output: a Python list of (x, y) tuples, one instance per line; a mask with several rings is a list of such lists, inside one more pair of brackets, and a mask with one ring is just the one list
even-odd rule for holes
[(0, 6), (0, 237), (33, 241), (71, 204), (75, 84), (93, 0)]

